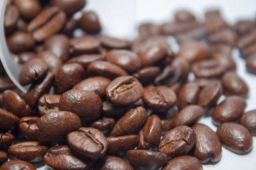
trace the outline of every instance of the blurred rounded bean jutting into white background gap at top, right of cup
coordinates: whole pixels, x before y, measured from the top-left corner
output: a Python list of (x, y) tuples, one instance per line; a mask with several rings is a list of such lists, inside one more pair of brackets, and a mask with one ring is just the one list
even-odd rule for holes
[(98, 34), (101, 31), (99, 18), (93, 11), (84, 12), (78, 20), (78, 25), (88, 34)]

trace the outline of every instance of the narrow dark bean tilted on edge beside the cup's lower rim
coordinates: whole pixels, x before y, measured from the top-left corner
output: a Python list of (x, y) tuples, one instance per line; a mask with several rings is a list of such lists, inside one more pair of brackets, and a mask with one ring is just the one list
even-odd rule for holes
[(29, 92), (27, 92), (25, 96), (26, 103), (33, 108), (36, 105), (37, 100), (43, 96), (44, 94), (47, 94), (49, 90), (51, 89), (51, 86), (54, 81), (54, 74), (51, 72), (47, 73), (44, 80), (37, 81), (35, 84), (33, 84), (29, 89)]

